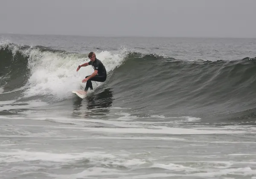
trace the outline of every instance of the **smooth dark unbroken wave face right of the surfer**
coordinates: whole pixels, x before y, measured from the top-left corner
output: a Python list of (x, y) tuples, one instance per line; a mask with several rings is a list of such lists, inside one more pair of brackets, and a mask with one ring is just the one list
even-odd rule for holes
[(180, 61), (129, 54), (116, 69), (111, 84), (119, 87), (118, 92), (134, 91), (138, 100), (159, 105), (160, 113), (182, 109), (188, 113), (227, 114), (254, 108), (255, 63), (256, 58)]

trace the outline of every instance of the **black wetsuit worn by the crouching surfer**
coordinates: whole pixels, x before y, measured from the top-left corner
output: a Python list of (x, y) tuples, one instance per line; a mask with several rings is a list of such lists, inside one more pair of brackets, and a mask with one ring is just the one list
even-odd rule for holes
[[(102, 62), (99, 59), (96, 58), (94, 62), (89, 61), (88, 64), (93, 66), (93, 69), (98, 70), (98, 74), (96, 76), (94, 76), (93, 78), (90, 78), (86, 82), (84, 91), (87, 91), (89, 88), (90, 88), (90, 90), (93, 90), (92, 81), (103, 82), (103, 81), (106, 81), (106, 79), (107, 79), (107, 71), (105, 69), (105, 66), (102, 64)], [(87, 78), (87, 77), (88, 76), (86, 76), (85, 78)]]

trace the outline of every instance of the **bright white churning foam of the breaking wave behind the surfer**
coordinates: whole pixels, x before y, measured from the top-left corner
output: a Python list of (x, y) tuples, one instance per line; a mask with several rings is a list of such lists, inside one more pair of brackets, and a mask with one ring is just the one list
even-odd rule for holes
[[(29, 78), (29, 90), (26, 91), (26, 96), (51, 94), (61, 99), (70, 97), (72, 90), (85, 87), (81, 81), (93, 72), (91, 66), (82, 67), (76, 72), (78, 65), (89, 61), (88, 58), (81, 58), (77, 54), (33, 50), (29, 55), (29, 69), (32, 75)], [(122, 64), (125, 51), (120, 54), (99, 52), (96, 53), (96, 57), (102, 61), (107, 71), (111, 72)], [(100, 84), (93, 82), (94, 88)]]

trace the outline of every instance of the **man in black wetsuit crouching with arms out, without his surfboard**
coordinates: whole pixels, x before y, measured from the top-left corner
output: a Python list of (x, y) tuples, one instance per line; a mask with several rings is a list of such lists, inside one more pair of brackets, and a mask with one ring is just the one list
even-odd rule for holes
[(83, 83), (87, 82), (84, 88), (85, 93), (87, 93), (89, 88), (90, 90), (93, 90), (92, 81), (103, 82), (103, 81), (106, 81), (107, 79), (107, 71), (105, 69), (105, 66), (102, 64), (102, 62), (99, 59), (96, 58), (95, 53), (90, 52), (88, 54), (88, 58), (90, 58), (89, 62), (79, 65), (76, 69), (76, 71), (78, 71), (82, 66), (88, 66), (88, 65), (93, 66), (94, 72), (91, 75), (86, 76), (82, 81)]

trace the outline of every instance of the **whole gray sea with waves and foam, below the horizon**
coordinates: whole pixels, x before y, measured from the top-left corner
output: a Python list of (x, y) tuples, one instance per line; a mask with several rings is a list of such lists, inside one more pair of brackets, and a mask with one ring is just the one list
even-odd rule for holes
[[(108, 78), (81, 99), (93, 72)], [(1, 179), (256, 179), (256, 39), (0, 35)]]

